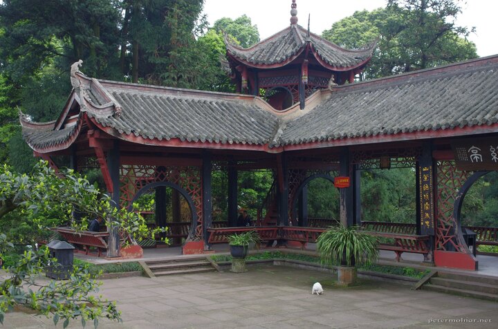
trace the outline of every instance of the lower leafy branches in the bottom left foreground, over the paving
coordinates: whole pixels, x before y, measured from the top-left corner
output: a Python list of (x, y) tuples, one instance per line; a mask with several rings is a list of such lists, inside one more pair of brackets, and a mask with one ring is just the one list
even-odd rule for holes
[[(12, 248), (5, 234), (0, 234), (0, 257)], [(45, 281), (37, 283), (37, 277), (44, 269), (53, 265), (46, 247), (37, 251), (27, 251), (19, 262), (9, 267), (8, 279), (0, 281), (0, 323), (5, 313), (15, 307), (31, 308), (39, 314), (52, 316), (54, 324), (63, 321), (66, 328), (71, 319), (80, 318), (82, 326), (93, 321), (97, 328), (100, 318), (121, 321), (116, 303), (95, 295), (101, 283), (93, 280), (88, 266), (74, 266), (71, 277), (65, 281)]]

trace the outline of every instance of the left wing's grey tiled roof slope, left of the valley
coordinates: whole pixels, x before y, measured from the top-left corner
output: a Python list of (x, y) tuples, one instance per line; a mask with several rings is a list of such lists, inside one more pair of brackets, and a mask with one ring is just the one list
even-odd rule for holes
[[(145, 139), (188, 142), (266, 144), (275, 133), (278, 119), (261, 109), (254, 97), (240, 100), (234, 95), (149, 88), (124, 88), (125, 84), (102, 82), (107, 93), (122, 106), (122, 114), (97, 116), (102, 126), (125, 135)], [(129, 85), (127, 85), (129, 87)], [(95, 117), (89, 111), (90, 117)]]

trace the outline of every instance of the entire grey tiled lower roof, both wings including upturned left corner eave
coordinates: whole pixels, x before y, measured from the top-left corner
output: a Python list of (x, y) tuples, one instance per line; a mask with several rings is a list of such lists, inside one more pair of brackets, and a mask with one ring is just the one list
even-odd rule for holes
[(36, 124), (21, 116), (30, 147), (37, 151), (69, 147), (80, 132), (83, 113), (123, 140), (216, 142), (227, 149), (230, 144), (285, 147), (414, 132), (432, 138), (443, 130), (498, 122), (498, 55), (337, 86), (312, 95), (315, 98), (304, 111), (297, 106), (286, 113), (273, 111), (250, 95), (79, 78), (84, 92), (72, 94), (81, 106), (79, 117), (64, 121), (63, 113), (57, 120), (64, 122), (59, 128), (57, 122)]

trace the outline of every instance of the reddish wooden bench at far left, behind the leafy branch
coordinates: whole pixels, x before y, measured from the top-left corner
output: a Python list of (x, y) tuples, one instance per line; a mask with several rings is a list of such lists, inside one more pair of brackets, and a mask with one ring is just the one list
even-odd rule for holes
[(90, 248), (97, 248), (97, 254), (100, 257), (102, 252), (107, 252), (107, 242), (109, 232), (76, 232), (71, 227), (55, 227), (53, 231), (58, 232), (68, 243), (73, 244), (77, 250), (82, 250), (85, 254), (90, 253)]

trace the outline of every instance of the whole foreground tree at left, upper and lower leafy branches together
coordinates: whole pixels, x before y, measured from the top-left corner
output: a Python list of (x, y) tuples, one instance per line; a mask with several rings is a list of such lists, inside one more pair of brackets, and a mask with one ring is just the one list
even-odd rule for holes
[[(158, 232), (147, 229), (140, 214), (115, 207), (109, 196), (100, 194), (94, 185), (72, 170), (56, 173), (43, 161), (35, 166), (34, 173), (30, 175), (12, 172), (6, 165), (0, 167), (0, 224), (3, 225), (9, 216), (15, 216), (17, 225), (12, 225), (12, 228), (17, 229), (22, 227), (20, 224), (23, 220), (30, 220), (33, 226), (31, 235), (33, 230), (48, 229), (48, 225), (56, 222), (69, 222), (76, 229), (84, 229), (87, 223), (85, 220), (81, 223), (71, 220), (76, 211), (91, 218), (107, 218), (107, 225), (124, 229), (138, 241)], [(2, 231), (12, 233), (5, 227)], [(20, 240), (17, 242), (29, 241)], [(10, 241), (8, 235), (0, 234), (0, 257), (12, 247)], [(30, 242), (35, 244), (35, 241)], [(55, 324), (59, 319), (64, 319), (64, 328), (70, 319), (78, 317), (82, 319), (83, 326), (89, 319), (94, 321), (95, 326), (100, 317), (120, 319), (114, 303), (90, 294), (98, 291), (98, 283), (91, 279), (85, 268), (75, 267), (68, 281), (37, 285), (35, 276), (53, 261), (48, 256), (48, 250), (42, 248), (25, 252), (8, 269), (10, 277), (0, 284), (1, 323), (5, 312), (17, 305), (33, 308), (40, 314), (51, 314)]]

